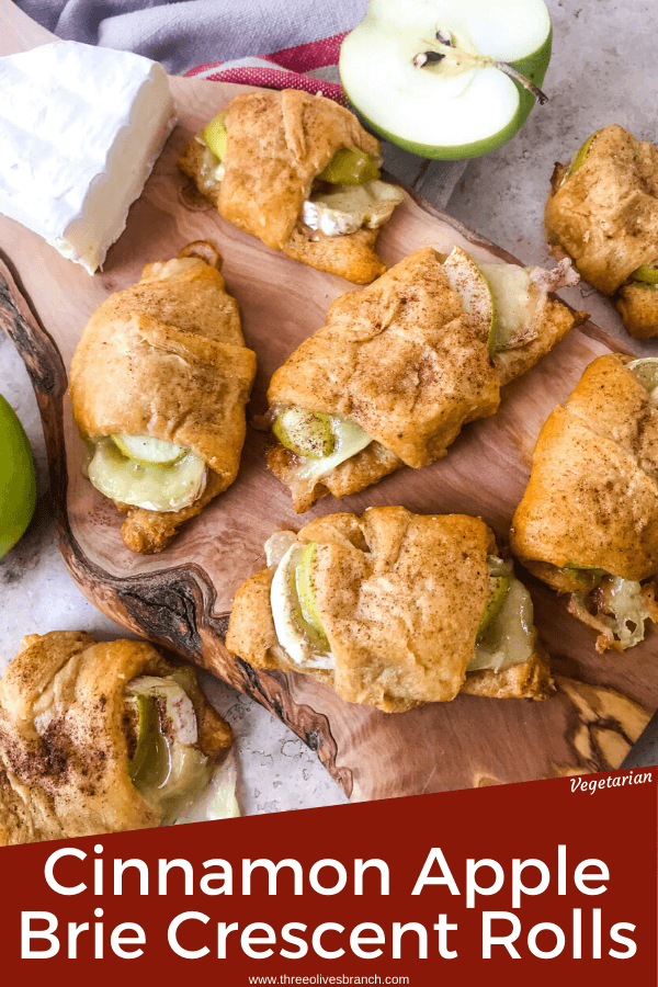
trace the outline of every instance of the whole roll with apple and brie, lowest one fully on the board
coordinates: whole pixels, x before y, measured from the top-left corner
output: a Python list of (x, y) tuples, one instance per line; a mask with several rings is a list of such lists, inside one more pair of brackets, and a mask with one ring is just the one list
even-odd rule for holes
[(226, 646), (310, 674), (351, 703), (400, 713), (462, 692), (545, 699), (532, 600), (464, 514), (370, 508), (279, 532), (238, 591)]

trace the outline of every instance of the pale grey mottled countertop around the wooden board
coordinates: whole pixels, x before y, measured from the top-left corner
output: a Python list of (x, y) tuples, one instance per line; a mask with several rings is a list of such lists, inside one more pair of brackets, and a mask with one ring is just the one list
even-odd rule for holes
[[(553, 164), (567, 161), (593, 131), (620, 123), (636, 137), (658, 141), (658, 3), (614, 0), (547, 0), (554, 54), (544, 83), (549, 97), (506, 147), (470, 162), (447, 212), (526, 263), (548, 263), (542, 228)], [(389, 169), (409, 179), (418, 159), (394, 150)], [(440, 169), (430, 166), (419, 191), (443, 204)], [(458, 171), (458, 169), (457, 169)], [(447, 170), (446, 170), (447, 173)], [(455, 171), (451, 172), (454, 179)], [(588, 309), (606, 331), (637, 352), (658, 355), (658, 340), (633, 342), (611, 306), (593, 290), (561, 293)], [(38, 503), (23, 540), (0, 560), (0, 670), (24, 634), (84, 629), (101, 637), (125, 636), (82, 597), (55, 543), (49, 511), (44, 440), (30, 378), (11, 341), (0, 337), (0, 393), (16, 410), (35, 453)], [(223, 683), (208, 689), (230, 723), (241, 765), (243, 813), (333, 805), (345, 798), (303, 741), (246, 696)]]

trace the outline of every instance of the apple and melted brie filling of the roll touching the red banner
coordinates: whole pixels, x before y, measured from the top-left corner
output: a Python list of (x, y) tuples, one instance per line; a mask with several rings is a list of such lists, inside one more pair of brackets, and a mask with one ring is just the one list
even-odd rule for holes
[[(198, 746), (198, 724), (191, 693), (194, 671), (175, 669), (168, 676), (139, 676), (125, 692), (124, 727), (128, 772), (135, 787), (161, 809), (161, 824), (184, 821), (195, 806), (195, 819), (239, 815), (235, 775), (219, 779), (217, 768)], [(213, 783), (213, 784), (212, 784)], [(232, 799), (227, 797), (227, 784)], [(208, 786), (212, 785), (208, 792)]]

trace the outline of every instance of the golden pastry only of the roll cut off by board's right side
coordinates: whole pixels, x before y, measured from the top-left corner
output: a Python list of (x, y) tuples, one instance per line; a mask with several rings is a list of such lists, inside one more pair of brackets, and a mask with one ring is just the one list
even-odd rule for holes
[(549, 585), (545, 564), (638, 581), (658, 569), (658, 409), (627, 362), (594, 360), (540, 432), (511, 546)]

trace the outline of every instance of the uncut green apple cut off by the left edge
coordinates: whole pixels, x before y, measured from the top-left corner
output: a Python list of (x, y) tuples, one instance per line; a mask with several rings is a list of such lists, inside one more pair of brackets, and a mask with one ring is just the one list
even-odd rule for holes
[(0, 558), (30, 524), (35, 503), (32, 449), (15, 411), (0, 395)]

